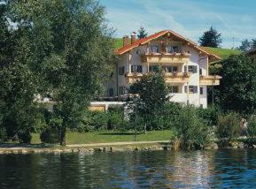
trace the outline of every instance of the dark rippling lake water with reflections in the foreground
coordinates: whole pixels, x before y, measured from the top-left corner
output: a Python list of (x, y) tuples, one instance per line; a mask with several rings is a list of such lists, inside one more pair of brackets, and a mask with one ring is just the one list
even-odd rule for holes
[(256, 150), (0, 155), (0, 188), (252, 188)]

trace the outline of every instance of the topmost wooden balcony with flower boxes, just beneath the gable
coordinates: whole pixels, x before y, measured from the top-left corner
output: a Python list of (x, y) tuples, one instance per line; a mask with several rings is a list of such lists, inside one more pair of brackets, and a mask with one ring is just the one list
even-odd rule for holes
[(142, 55), (144, 63), (184, 64), (190, 59), (189, 53), (146, 53)]

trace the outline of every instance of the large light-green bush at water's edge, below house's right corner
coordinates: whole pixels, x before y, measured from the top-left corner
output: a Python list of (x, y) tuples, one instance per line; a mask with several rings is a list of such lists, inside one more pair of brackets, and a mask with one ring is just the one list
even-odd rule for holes
[(175, 138), (183, 149), (204, 148), (209, 143), (209, 132), (205, 121), (198, 117), (197, 109), (188, 106), (175, 118)]

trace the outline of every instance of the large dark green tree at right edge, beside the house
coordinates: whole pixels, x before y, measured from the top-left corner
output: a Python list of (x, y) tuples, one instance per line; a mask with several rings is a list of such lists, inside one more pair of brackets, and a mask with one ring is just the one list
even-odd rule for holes
[(218, 87), (223, 110), (255, 113), (256, 62), (245, 55), (231, 56), (222, 62)]

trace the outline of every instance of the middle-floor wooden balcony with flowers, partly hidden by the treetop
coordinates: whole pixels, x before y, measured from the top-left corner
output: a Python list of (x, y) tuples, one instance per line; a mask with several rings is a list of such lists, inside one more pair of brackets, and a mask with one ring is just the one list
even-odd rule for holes
[[(190, 72), (167, 72), (165, 73), (165, 79), (167, 83), (172, 83), (172, 84), (179, 84), (179, 83), (186, 83), (190, 79)], [(128, 73), (126, 75), (128, 79), (128, 84), (133, 84), (136, 81), (140, 80), (141, 77), (143, 76), (142, 73)]]

